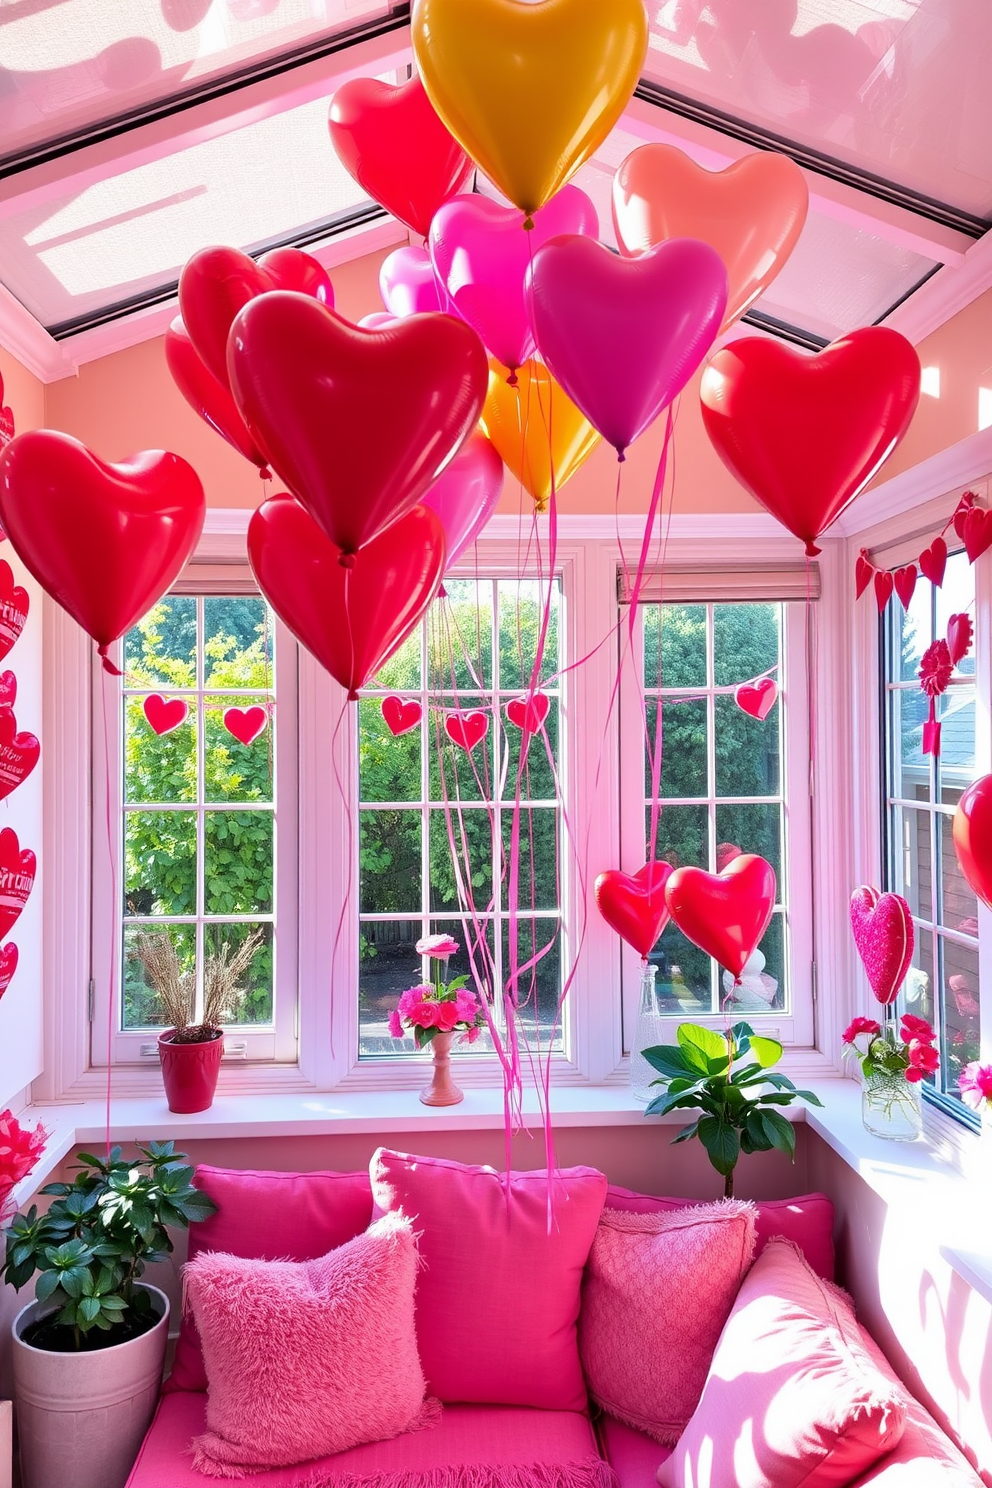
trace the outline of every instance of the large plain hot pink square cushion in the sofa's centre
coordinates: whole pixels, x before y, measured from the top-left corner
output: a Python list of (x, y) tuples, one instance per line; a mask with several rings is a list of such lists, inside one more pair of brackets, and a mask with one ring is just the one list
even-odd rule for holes
[[(442, 1400), (583, 1411), (576, 1321), (607, 1180), (504, 1174), (379, 1147), (372, 1192), (419, 1235), (416, 1336)], [(553, 1199), (549, 1229), (549, 1192)]]

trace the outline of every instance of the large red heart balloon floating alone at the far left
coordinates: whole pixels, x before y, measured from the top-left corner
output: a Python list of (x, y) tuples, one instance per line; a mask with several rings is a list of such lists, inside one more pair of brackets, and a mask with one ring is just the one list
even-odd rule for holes
[(0, 454), (0, 522), (104, 661), (175, 583), (205, 515), (199, 476), (162, 449), (110, 464), (70, 434), (34, 429)]

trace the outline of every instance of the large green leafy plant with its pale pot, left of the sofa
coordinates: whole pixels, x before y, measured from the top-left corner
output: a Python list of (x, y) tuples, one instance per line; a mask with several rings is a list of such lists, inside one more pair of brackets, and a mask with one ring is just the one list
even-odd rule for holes
[(140, 1281), (173, 1250), (168, 1229), (216, 1205), (171, 1141), (125, 1159), (79, 1155), (49, 1210), (15, 1214), (0, 1272), (34, 1302), (13, 1320), (13, 1394), (24, 1488), (122, 1488), (162, 1381), (168, 1298)]

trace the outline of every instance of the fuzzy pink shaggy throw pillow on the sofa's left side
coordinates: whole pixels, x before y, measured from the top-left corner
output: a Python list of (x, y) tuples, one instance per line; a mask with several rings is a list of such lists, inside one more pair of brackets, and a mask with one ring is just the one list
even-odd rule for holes
[(436, 1420), (416, 1353), (416, 1266), (412, 1228), (394, 1214), (318, 1260), (189, 1262), (208, 1379), (199, 1472), (244, 1478)]

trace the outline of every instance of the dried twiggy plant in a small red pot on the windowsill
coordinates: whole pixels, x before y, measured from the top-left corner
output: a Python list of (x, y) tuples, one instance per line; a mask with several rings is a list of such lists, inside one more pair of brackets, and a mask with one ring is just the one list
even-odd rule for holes
[(204, 1012), (193, 1022), (196, 970), (183, 972), (175, 943), (165, 930), (143, 930), (135, 936), (135, 954), (149, 985), (162, 1003), (170, 1027), (159, 1034), (159, 1061), (171, 1112), (192, 1115), (213, 1104), (225, 1052), (225, 1022), (236, 1022), (245, 992), (238, 985), (262, 942), (254, 930), (232, 952), (222, 945), (204, 966)]

